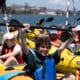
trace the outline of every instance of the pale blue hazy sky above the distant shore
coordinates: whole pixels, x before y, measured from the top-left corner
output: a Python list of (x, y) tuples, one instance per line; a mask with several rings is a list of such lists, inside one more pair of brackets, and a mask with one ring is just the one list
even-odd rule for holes
[(76, 10), (80, 10), (80, 0), (6, 0), (7, 5), (25, 5), (46, 7), (48, 9), (67, 10), (67, 1), (70, 1), (69, 10), (73, 10), (72, 1)]

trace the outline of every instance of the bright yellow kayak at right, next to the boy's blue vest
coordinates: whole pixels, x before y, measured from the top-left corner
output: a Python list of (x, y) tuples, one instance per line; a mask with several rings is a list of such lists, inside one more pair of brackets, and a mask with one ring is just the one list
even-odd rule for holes
[(76, 70), (80, 69), (80, 56), (74, 55), (71, 51), (65, 49), (56, 68), (61, 73), (76, 73)]

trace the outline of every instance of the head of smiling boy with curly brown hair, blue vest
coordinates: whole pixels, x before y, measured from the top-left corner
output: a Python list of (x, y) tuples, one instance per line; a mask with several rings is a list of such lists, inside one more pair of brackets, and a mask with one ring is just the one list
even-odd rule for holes
[(36, 38), (35, 48), (42, 56), (47, 56), (51, 47), (51, 40), (49, 36), (39, 36)]

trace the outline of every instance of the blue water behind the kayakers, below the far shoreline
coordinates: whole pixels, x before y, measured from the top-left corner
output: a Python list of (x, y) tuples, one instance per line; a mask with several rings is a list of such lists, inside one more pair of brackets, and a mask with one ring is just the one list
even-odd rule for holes
[[(66, 17), (65, 16), (51, 16), (51, 15), (12, 15), (11, 17), (8, 17), (8, 22), (10, 22), (11, 19), (16, 19), (21, 23), (29, 23), (32, 26), (35, 26), (40, 19), (44, 18), (45, 20), (48, 19), (49, 17), (54, 17), (54, 20), (51, 22), (46, 22), (44, 21), (44, 26), (49, 27), (51, 25), (65, 25), (66, 23)], [(80, 16), (77, 16), (76, 18), (79, 18)], [(0, 15), (0, 22), (2, 22), (3, 16)], [(69, 23), (72, 26), (76, 26), (79, 24), (79, 22), (73, 23), (74, 21), (74, 16), (69, 16), (68, 18)], [(5, 31), (5, 30), (4, 30)]]

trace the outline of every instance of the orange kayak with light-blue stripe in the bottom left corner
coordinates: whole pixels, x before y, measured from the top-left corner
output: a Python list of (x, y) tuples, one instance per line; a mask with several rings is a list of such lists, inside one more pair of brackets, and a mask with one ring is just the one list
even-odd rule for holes
[(25, 72), (20, 70), (1, 71), (1, 73), (0, 80), (33, 80), (31, 77), (25, 75)]

